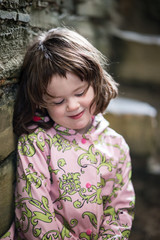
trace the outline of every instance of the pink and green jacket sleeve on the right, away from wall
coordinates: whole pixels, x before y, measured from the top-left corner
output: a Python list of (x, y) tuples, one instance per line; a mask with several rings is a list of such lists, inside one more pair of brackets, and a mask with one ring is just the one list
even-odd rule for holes
[(134, 218), (135, 193), (131, 182), (131, 159), (128, 145), (122, 139), (112, 193), (104, 200), (103, 222), (99, 239), (129, 239)]

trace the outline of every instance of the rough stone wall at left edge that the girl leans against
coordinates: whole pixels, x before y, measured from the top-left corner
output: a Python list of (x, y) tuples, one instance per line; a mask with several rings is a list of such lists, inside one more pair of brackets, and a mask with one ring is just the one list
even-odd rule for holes
[(0, 1), (0, 235), (13, 217), (15, 136), (12, 114), (18, 71), (28, 42), (29, 2)]

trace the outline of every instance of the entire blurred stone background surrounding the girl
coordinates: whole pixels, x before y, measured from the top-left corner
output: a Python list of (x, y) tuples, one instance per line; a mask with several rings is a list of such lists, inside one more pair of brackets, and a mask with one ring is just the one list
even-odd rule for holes
[(160, 0), (0, 0), (0, 236), (13, 218), (13, 104), (29, 42), (69, 26), (108, 58), (120, 84), (106, 109), (130, 146), (136, 192), (131, 240), (160, 239)]

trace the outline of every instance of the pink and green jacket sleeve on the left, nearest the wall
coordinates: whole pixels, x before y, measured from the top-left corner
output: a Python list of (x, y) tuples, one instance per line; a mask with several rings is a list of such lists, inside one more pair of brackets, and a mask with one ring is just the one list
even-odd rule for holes
[[(16, 239), (65, 239), (72, 233), (56, 218), (50, 196), (51, 138), (43, 130), (24, 135), (18, 141), (15, 198)], [(74, 239), (74, 238), (72, 238)]]

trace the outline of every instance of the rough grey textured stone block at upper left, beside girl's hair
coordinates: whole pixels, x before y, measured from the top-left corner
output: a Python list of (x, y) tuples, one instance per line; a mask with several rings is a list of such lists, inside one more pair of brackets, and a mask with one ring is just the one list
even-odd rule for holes
[(0, 26), (0, 79), (11, 79), (18, 76), (29, 39), (24, 26), (4, 27)]

